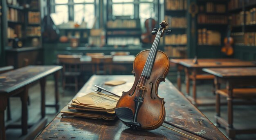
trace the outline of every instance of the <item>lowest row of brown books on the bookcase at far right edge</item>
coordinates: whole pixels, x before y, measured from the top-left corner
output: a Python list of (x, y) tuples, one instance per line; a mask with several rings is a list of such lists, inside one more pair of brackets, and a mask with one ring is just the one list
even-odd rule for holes
[(237, 32), (231, 33), (231, 36), (236, 45), (256, 46), (256, 32)]

